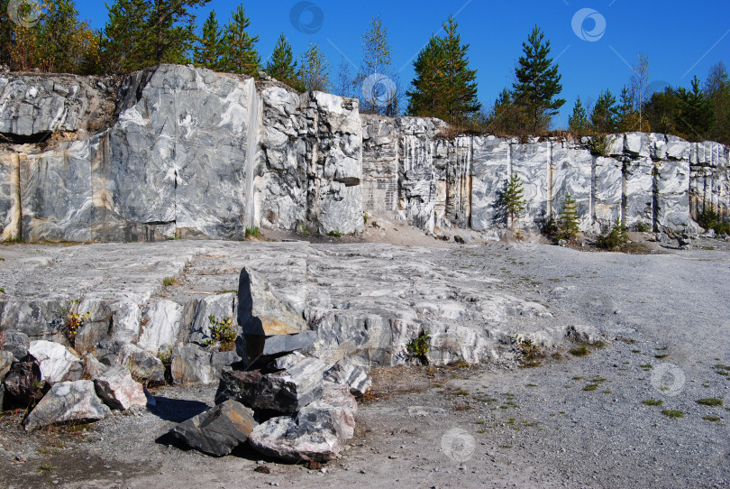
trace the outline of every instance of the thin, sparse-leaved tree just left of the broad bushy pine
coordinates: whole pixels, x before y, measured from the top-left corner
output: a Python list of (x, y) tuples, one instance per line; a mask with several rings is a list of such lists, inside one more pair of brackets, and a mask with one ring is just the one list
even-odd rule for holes
[[(382, 83), (380, 78), (392, 81), (390, 74), (391, 48), (388, 43), (388, 29), (380, 16), (370, 20), (370, 28), (362, 34), (362, 63), (356, 78), (360, 90), (360, 110), (370, 114), (385, 114), (388, 106), (395, 103), (395, 84)], [(370, 79), (370, 84), (364, 84)], [(385, 90), (387, 93), (381, 93)]]

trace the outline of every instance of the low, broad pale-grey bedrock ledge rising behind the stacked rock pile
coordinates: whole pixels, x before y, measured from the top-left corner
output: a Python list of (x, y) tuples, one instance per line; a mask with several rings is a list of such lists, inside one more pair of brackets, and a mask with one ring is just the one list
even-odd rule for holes
[[(236, 324), (231, 291), (243, 267), (255, 277), (255, 313), (277, 308), (302, 318), (316, 337), (308, 353), (328, 366), (343, 358), (366, 368), (416, 361), (406, 345), (426, 331), (433, 364), (497, 360), (509, 355), (509, 337), (550, 348), (575, 326), (478, 268), (440, 263), (443, 250), (216, 241), (16, 250), (0, 270), (0, 331), (79, 352), (170, 353), (178, 383), (216, 382), (225, 365), (240, 360), (209, 345), (208, 316)], [(182, 285), (164, 287), (172, 276)], [(70, 300), (89, 313), (73, 345), (62, 328)]]

